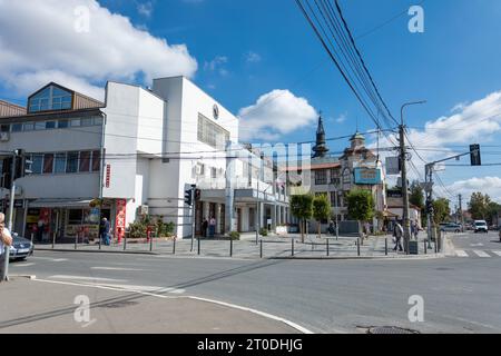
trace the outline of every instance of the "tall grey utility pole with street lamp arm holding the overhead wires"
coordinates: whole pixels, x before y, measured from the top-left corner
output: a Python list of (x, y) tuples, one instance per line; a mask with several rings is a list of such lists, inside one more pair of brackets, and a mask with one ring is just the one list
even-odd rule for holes
[(403, 118), (403, 111), (405, 107), (411, 105), (421, 105), (426, 101), (413, 101), (413, 102), (406, 102), (402, 106), (400, 110), (400, 161), (402, 165), (402, 197), (403, 197), (403, 229), (404, 229), (404, 247), (405, 247), (405, 254), (409, 255), (409, 241), (411, 239), (411, 220), (410, 220), (410, 212), (409, 212), (409, 185), (407, 185), (407, 151), (405, 147), (405, 126), (404, 126), (404, 118)]

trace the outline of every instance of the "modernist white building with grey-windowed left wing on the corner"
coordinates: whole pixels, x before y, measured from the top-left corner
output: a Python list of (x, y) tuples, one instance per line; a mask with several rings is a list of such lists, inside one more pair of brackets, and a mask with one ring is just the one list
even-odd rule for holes
[(46, 235), (92, 237), (100, 216), (118, 235), (148, 214), (188, 237), (191, 185), (202, 189), (197, 234), (204, 217), (216, 218), (217, 234), (288, 218), (273, 165), (239, 146), (238, 119), (184, 77), (156, 79), (151, 89), (108, 82), (105, 102), (49, 83), (26, 108), (0, 101), (0, 151), (21, 148), (33, 160), (16, 196), (14, 229), (23, 235), (43, 219)]

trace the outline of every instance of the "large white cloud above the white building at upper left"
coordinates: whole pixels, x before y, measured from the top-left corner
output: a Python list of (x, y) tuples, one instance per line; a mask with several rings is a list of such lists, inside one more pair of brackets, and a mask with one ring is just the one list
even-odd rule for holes
[[(78, 9), (88, 9), (88, 31), (76, 30), (85, 21)], [(185, 44), (168, 44), (95, 0), (0, 0), (0, 80), (19, 95), (49, 73), (95, 95), (108, 79), (193, 77), (198, 67)]]

